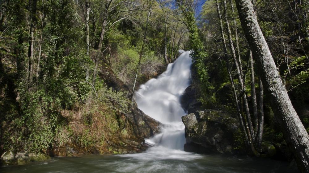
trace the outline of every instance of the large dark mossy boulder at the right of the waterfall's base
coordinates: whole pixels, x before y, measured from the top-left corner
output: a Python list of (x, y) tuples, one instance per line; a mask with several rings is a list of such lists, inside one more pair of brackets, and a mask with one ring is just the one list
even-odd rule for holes
[(220, 109), (197, 111), (182, 117), (187, 144), (185, 151), (235, 154), (234, 133), (239, 124), (231, 114)]

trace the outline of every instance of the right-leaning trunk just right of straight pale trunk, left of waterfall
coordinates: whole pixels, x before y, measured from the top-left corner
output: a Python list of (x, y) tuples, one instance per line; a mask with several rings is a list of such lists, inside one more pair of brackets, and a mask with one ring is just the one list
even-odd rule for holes
[(92, 78), (92, 84), (95, 85), (95, 79), (97, 75), (97, 69), (99, 66), (99, 60), (100, 57), (102, 56), (102, 47), (103, 47), (103, 41), (104, 41), (104, 34), (105, 34), (105, 29), (106, 29), (106, 24), (107, 24), (107, 15), (108, 15), (108, 9), (109, 6), (111, 5), (112, 0), (108, 1), (105, 3), (105, 9), (103, 13), (103, 22), (102, 22), (102, 27), (101, 27), (101, 35), (100, 35), (100, 40), (99, 40), (99, 45), (98, 45), (98, 50), (95, 56), (95, 67), (93, 69), (93, 78)]

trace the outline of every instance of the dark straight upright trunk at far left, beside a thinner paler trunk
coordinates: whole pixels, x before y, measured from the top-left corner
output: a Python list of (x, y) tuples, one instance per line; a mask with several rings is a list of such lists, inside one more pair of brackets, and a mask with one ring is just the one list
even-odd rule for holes
[(31, 9), (31, 22), (30, 22), (30, 40), (29, 40), (29, 49), (28, 49), (28, 88), (32, 83), (33, 76), (33, 52), (34, 52), (34, 24), (36, 22), (36, 1), (37, 0), (29, 0), (29, 6)]

